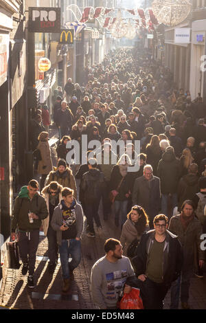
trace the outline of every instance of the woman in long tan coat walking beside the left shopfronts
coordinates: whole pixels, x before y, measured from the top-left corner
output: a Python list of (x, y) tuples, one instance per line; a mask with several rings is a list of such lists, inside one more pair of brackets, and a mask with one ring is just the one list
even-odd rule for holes
[(52, 166), (52, 156), (51, 156), (51, 150), (49, 147), (49, 133), (43, 131), (38, 136), (38, 147), (37, 149), (41, 153), (41, 160), (38, 161), (38, 174), (41, 175), (41, 190), (44, 188), (45, 180), (47, 178), (47, 175), (51, 170), (53, 170)]

